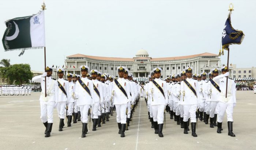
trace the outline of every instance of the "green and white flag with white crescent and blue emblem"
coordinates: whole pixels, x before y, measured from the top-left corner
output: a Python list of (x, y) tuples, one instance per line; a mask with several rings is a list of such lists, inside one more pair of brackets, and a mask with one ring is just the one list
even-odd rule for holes
[(27, 49), (45, 47), (44, 11), (10, 19), (5, 24), (7, 28), (2, 39), (5, 51), (22, 50), (22, 55)]

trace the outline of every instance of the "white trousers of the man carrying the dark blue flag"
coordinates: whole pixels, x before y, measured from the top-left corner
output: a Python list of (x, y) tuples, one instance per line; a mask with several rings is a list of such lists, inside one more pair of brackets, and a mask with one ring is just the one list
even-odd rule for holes
[(233, 109), (234, 109), (234, 104), (226, 104), (221, 101), (217, 103), (216, 111), (218, 114), (218, 122), (221, 123), (223, 122), (224, 114), (225, 111), (227, 113), (227, 121), (228, 122), (233, 122)]

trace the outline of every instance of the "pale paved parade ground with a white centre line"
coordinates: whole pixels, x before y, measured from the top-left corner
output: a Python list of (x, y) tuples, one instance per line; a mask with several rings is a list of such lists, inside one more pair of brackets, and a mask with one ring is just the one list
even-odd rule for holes
[[(223, 120), (222, 134), (217, 127), (198, 121), (198, 137), (183, 134), (183, 129), (166, 114), (163, 138), (154, 134), (148, 119), (147, 106), (142, 98), (136, 108), (125, 138), (118, 134), (116, 114), (110, 121), (97, 127), (97, 131), (80, 138), (82, 123), (67, 123), (59, 132), (59, 118), (54, 109), (52, 134), (44, 137), (45, 127), (40, 119), (39, 92), (31, 96), (0, 96), (0, 144), (2, 150), (253, 150), (256, 149), (256, 94), (253, 91), (237, 91), (237, 105), (234, 109), (233, 132), (236, 137), (227, 135), (226, 116)], [(66, 120), (64, 120), (65, 122)], [(89, 123), (88, 123), (89, 128)], [(191, 129), (191, 124), (189, 125)], [(92, 123), (91, 127), (92, 129)]]

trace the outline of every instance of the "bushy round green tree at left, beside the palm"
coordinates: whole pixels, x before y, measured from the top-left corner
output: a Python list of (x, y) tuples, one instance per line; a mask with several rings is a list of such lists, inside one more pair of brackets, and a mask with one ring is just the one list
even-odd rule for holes
[(29, 64), (14, 64), (8, 67), (6, 76), (10, 80), (10, 84), (13, 82), (17, 85), (28, 83), (33, 77), (33, 73), (30, 70)]

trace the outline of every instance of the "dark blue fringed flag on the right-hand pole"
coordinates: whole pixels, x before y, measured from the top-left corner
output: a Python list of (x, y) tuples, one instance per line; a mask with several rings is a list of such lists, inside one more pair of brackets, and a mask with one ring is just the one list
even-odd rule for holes
[(235, 30), (231, 25), (230, 13), (226, 20), (225, 27), (222, 32), (222, 49), (228, 49), (231, 44), (241, 44), (244, 39), (244, 33)]

